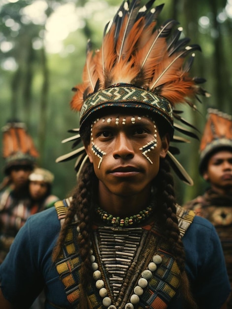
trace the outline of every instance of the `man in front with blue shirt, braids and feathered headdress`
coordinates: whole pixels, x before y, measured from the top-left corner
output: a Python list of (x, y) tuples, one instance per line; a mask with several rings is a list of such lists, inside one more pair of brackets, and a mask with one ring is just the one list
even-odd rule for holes
[(77, 156), (78, 185), (19, 232), (0, 266), (3, 309), (28, 308), (42, 288), (46, 309), (225, 308), (218, 235), (175, 204), (168, 163), (189, 181), (169, 140), (175, 103), (205, 94), (183, 67), (198, 47), (179, 41), (174, 21), (154, 29), (163, 5), (151, 5), (124, 2), (101, 49), (88, 49), (71, 103), (80, 129), (68, 139), (84, 147), (58, 159)]

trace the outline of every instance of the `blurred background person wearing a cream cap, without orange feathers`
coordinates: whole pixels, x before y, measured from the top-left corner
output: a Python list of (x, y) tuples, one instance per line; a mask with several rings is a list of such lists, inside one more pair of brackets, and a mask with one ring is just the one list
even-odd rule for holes
[(54, 175), (47, 169), (35, 168), (29, 176), (29, 193), (38, 211), (54, 206), (59, 197), (52, 194)]

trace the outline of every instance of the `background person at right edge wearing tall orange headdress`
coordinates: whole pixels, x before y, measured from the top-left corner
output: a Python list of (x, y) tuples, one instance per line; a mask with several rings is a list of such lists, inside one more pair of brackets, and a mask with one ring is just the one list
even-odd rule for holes
[[(232, 116), (208, 109), (200, 143), (199, 172), (208, 183), (206, 191), (185, 203), (209, 220), (220, 237), (232, 285)], [(232, 297), (228, 301), (232, 309)]]

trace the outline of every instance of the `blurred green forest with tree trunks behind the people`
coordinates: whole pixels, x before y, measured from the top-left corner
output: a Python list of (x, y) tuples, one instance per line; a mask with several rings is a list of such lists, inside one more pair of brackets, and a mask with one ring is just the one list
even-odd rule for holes
[[(197, 112), (184, 108), (200, 140), (207, 108), (232, 114), (232, 0), (156, 0), (154, 5), (163, 2), (158, 24), (178, 20), (184, 35), (202, 49), (191, 72), (206, 78), (203, 87), (211, 97), (194, 102)], [(53, 193), (60, 198), (76, 184), (75, 161), (55, 162), (71, 151), (71, 144), (61, 141), (78, 127), (79, 115), (69, 108), (71, 88), (81, 81), (87, 39), (94, 48), (100, 46), (104, 26), (119, 4), (121, 0), (0, 0), (0, 127), (13, 118), (26, 123), (40, 154), (37, 164), (54, 173)], [(180, 204), (207, 187), (199, 176), (199, 141), (190, 140), (179, 145), (177, 158), (195, 184), (187, 186), (175, 177)], [(0, 156), (0, 179), (3, 166)]]

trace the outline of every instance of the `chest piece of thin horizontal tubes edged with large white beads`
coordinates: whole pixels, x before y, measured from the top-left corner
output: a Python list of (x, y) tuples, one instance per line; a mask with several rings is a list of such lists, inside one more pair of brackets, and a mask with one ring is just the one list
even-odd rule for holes
[[(156, 253), (150, 257), (147, 268), (144, 269), (145, 259), (138, 263), (149, 233), (142, 231), (142, 228), (104, 227), (94, 232), (93, 244), (98, 258), (91, 250), (91, 262), (104, 308), (136, 308), (153, 272), (162, 263), (162, 257)], [(130, 286), (128, 283), (133, 277), (134, 283), (138, 281)]]

